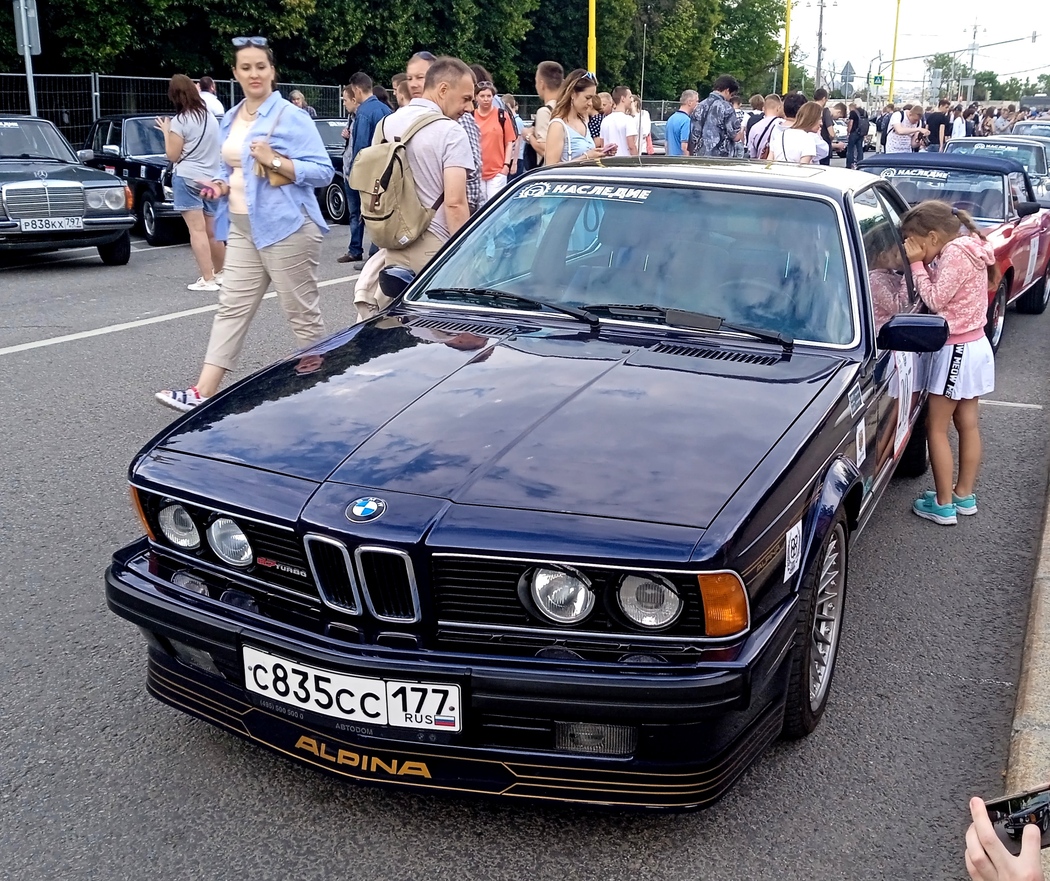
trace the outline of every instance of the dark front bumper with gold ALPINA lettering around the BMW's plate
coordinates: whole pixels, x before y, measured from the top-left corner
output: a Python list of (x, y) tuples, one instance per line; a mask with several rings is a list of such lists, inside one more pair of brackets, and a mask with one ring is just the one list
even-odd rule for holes
[[(146, 634), (151, 694), (298, 761), (373, 783), (665, 809), (714, 801), (779, 734), (797, 614), (784, 604), (733, 663), (662, 675), (329, 638), (180, 590), (151, 573), (144, 542), (114, 555), (106, 597)], [(245, 644), (349, 674), (456, 684), (463, 731), (350, 725), (259, 698), (244, 687)], [(210, 655), (210, 672), (186, 647)], [(492, 734), (544, 720), (634, 726), (637, 747), (600, 757), (514, 749)]]

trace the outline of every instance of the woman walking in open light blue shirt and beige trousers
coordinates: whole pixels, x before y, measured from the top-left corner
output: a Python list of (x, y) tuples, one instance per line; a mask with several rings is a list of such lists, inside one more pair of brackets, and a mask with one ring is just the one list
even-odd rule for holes
[(223, 118), (223, 161), (205, 192), (217, 201), (215, 237), (227, 239), (226, 269), (196, 385), (155, 395), (178, 411), (218, 391), (271, 282), (299, 345), (324, 336), (317, 266), (328, 226), (314, 189), (331, 183), (332, 161), (313, 120), (274, 90), (277, 71), (266, 39), (236, 37), (233, 46), (245, 100)]

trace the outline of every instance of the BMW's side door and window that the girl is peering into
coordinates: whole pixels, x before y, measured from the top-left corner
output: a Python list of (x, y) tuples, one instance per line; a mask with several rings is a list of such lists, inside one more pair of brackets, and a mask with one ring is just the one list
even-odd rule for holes
[[(894, 315), (922, 308), (900, 234), (903, 205), (887, 185), (880, 183), (854, 196), (854, 211), (864, 246), (862, 281), (878, 333)], [(874, 482), (875, 491), (869, 494), (873, 498), (884, 488), (907, 444), (921, 406), (916, 390), (924, 368), (912, 353), (876, 350), (870, 378), (874, 405), (867, 407), (865, 437), (857, 437), (858, 457), (863, 459), (861, 473), (865, 482)]]

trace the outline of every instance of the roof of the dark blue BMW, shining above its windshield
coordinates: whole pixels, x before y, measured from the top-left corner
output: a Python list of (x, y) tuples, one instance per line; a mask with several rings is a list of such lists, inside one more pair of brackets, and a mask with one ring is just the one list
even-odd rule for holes
[(694, 156), (614, 156), (588, 160), (529, 172), (526, 180), (581, 177), (617, 183), (717, 184), (758, 189), (790, 189), (800, 193), (841, 196), (878, 181), (865, 171), (825, 165), (697, 159)]

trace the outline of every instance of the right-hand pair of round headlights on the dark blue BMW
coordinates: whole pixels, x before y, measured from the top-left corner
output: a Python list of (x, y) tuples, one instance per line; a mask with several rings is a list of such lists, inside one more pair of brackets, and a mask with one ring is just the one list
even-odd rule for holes
[[(526, 579), (531, 605), (555, 624), (580, 624), (594, 609), (597, 596), (590, 580), (582, 572), (540, 567)], [(670, 626), (685, 607), (674, 585), (660, 575), (624, 575), (615, 591), (616, 604), (624, 616), (647, 630)]]

